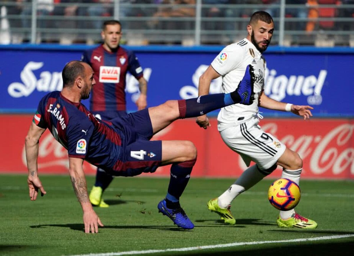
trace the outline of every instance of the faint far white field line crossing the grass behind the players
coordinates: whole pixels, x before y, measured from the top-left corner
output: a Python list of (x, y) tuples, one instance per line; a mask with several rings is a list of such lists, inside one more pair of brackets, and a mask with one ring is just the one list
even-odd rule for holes
[[(72, 187), (46, 187), (48, 191), (67, 191), (71, 190)], [(28, 190), (27, 186), (0, 186), (0, 190)], [(106, 191), (112, 192), (144, 192), (144, 193), (157, 193), (161, 190), (158, 189), (149, 189), (149, 188), (107, 188)], [(186, 193), (202, 193), (202, 192), (210, 192), (210, 190), (187, 190)], [(224, 191), (219, 191), (223, 193)], [(246, 191), (242, 194), (248, 196), (264, 196), (267, 192), (256, 192), (256, 191)], [(312, 196), (312, 197), (344, 197), (344, 198), (354, 198), (354, 194), (329, 194), (329, 193), (301, 193), (301, 196)]]

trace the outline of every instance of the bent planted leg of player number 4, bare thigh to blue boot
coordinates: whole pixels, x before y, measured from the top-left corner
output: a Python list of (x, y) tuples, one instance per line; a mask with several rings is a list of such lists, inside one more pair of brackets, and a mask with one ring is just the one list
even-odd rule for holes
[(162, 141), (162, 165), (172, 165), (166, 198), (158, 204), (158, 209), (177, 226), (185, 229), (192, 229), (194, 225), (181, 208), (179, 197), (188, 184), (196, 157), (197, 150), (190, 141)]

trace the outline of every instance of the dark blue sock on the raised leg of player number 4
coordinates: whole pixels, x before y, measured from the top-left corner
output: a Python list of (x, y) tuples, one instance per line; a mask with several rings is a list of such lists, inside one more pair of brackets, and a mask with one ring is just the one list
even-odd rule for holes
[(179, 118), (202, 116), (210, 111), (239, 103), (241, 98), (234, 91), (232, 93), (217, 93), (203, 95), (188, 100), (178, 100)]

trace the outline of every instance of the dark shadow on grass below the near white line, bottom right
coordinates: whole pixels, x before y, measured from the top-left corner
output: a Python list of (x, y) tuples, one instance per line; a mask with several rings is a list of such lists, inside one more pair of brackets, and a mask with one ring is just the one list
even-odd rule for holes
[(212, 250), (212, 251), (194, 251), (194, 252), (179, 252), (178, 255), (353, 255), (354, 242), (340, 242), (340, 243), (325, 243), (318, 244), (297, 244), (297, 245), (284, 245), (284, 244), (274, 244), (267, 245), (267, 247), (259, 249), (248, 250), (247, 246), (239, 249), (229, 249), (224, 250)]

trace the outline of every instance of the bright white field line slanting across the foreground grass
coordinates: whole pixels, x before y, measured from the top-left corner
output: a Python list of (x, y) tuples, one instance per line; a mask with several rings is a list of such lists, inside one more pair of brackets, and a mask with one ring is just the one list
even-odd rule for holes
[(174, 248), (174, 249), (164, 249), (164, 250), (122, 251), (122, 252), (107, 252), (107, 253), (97, 253), (97, 254), (91, 253), (91, 254), (79, 254), (79, 255), (72, 255), (72, 256), (119, 256), (119, 255), (133, 255), (133, 254), (150, 254), (150, 253), (170, 252), (170, 251), (178, 251), (178, 252), (195, 251), (195, 250), (204, 250), (204, 249), (234, 247), (240, 245), (297, 243), (297, 242), (308, 242), (308, 241), (317, 241), (317, 240), (339, 239), (339, 238), (347, 238), (347, 237), (354, 237), (354, 234), (331, 235), (327, 237), (299, 238), (299, 239), (279, 240), (279, 241), (238, 242), (238, 243), (231, 243), (231, 244), (204, 245), (204, 246)]

